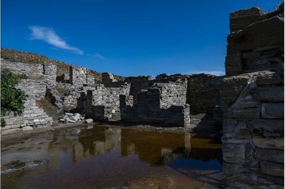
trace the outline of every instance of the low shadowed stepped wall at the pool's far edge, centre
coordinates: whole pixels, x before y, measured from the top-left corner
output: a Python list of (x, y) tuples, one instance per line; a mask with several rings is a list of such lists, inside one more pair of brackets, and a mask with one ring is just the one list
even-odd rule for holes
[(131, 98), (120, 95), (121, 119), (128, 122), (162, 126), (189, 126), (189, 105), (160, 108), (160, 89), (148, 88), (137, 93), (137, 105), (130, 106)]

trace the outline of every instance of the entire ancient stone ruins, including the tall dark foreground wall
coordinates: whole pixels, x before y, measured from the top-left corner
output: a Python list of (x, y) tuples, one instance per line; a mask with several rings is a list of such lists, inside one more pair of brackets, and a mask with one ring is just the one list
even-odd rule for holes
[[(28, 95), (24, 112), (1, 116), (7, 123), (1, 133), (51, 126), (52, 118), (36, 106), (43, 98), (94, 122), (190, 127), (192, 112), (208, 113), (216, 125), (222, 123), (224, 185), (282, 188), (284, 3), (268, 14), (258, 8), (232, 12), (230, 31), (226, 76), (218, 77), (120, 77), (50, 59), (41, 63), (1, 59), (1, 70), (27, 76), (17, 87)], [(1, 49), (1, 54), (4, 51), (8, 49)]]

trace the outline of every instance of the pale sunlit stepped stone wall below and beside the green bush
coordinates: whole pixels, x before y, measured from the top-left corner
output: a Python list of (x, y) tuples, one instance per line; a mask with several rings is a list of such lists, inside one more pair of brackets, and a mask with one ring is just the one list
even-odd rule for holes
[(23, 113), (11, 112), (8, 115), (1, 116), (1, 119), (6, 121), (6, 126), (1, 128), (1, 134), (31, 130), (35, 127), (45, 128), (52, 125), (52, 117), (48, 117), (43, 108), (36, 106), (35, 95), (27, 95), (26, 99)]

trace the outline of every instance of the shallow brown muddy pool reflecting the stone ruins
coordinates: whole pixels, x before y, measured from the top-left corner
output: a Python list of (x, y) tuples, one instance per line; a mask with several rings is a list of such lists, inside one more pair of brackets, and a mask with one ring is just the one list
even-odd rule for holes
[(1, 188), (112, 188), (168, 175), (173, 188), (219, 186), (219, 140), (195, 134), (88, 126), (1, 148)]

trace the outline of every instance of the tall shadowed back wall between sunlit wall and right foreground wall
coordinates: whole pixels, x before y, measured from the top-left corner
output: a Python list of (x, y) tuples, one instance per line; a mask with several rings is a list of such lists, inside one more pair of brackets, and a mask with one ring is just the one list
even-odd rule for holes
[(225, 76), (193, 74), (188, 78), (187, 103), (197, 113), (213, 114), (220, 105), (220, 83)]

